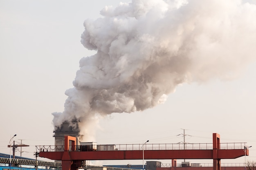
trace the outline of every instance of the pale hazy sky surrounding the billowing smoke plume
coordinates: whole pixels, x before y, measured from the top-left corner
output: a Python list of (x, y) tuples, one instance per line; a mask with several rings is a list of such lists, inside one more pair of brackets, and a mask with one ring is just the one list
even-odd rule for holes
[[(103, 17), (101, 9), (116, 7), (119, 2), (0, 0), (1, 153), (10, 153), (7, 145), (14, 134), (16, 142), (29, 145), (22, 148), (23, 157), (34, 158), (37, 145), (54, 145), (52, 113), (63, 112), (65, 91), (74, 87), (79, 60), (97, 53), (81, 44), (83, 22)], [(255, 57), (255, 51), (252, 53)], [(184, 82), (168, 94), (164, 104), (99, 119), (99, 126), (92, 130), (94, 139), (98, 144), (178, 143), (183, 141), (179, 134), (186, 129), (186, 142), (212, 143), (216, 132), (221, 143), (247, 142), (252, 148), (246, 159), (256, 161), (255, 87), (256, 60), (250, 60), (235, 78)], [(222, 160), (229, 162), (244, 163), (244, 157)]]

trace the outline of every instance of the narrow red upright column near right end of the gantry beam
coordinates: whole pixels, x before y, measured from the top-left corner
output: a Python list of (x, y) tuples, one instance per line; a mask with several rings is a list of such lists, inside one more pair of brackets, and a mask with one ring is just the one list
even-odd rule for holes
[(220, 170), (220, 159), (218, 159), (218, 150), (220, 149), (220, 135), (213, 133), (213, 170)]

